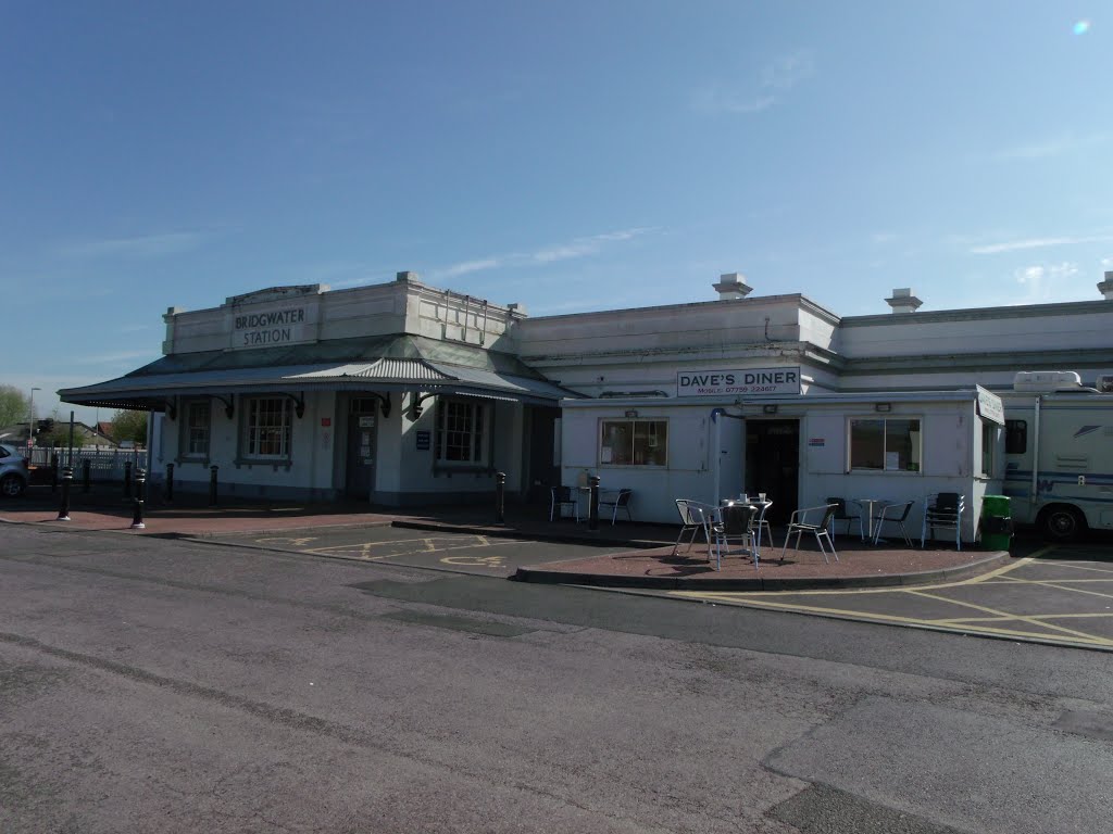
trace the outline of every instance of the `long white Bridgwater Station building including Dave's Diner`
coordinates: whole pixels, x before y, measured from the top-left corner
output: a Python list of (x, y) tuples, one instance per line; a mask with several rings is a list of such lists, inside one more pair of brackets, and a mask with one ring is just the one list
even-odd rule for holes
[[(170, 308), (161, 359), (59, 391), (155, 413), (152, 475), (221, 494), (385, 506), (512, 498), (550, 485), (633, 490), (631, 512), (766, 493), (770, 517), (827, 497), (1002, 492), (998, 394), (1020, 370), (1113, 373), (1101, 299), (839, 317), (721, 276), (703, 302), (529, 317), (522, 305), (393, 282), (276, 287)], [(913, 519), (918, 524), (918, 518)]]

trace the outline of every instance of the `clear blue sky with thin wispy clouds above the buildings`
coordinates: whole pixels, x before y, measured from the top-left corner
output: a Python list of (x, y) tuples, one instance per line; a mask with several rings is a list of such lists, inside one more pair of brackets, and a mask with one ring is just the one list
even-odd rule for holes
[(535, 316), (1096, 299), (1109, 9), (3, 3), (0, 384), (49, 414), (169, 306), (403, 269)]

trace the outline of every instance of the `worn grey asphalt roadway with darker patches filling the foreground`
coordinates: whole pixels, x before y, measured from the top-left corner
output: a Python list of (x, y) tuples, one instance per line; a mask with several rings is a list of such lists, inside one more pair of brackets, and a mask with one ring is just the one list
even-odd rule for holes
[(1102, 653), (10, 525), (0, 602), (4, 832), (1113, 820)]

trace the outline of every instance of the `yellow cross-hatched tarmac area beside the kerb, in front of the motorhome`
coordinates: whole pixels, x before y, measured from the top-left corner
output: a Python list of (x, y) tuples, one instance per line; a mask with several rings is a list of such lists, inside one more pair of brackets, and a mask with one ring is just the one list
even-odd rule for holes
[(1107, 547), (1053, 545), (981, 576), (915, 587), (669, 596), (1113, 651)]

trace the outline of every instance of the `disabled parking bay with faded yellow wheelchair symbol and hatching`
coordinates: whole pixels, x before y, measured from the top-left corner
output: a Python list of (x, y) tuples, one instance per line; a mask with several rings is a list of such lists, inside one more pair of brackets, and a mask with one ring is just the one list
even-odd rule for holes
[(582, 559), (588, 555), (621, 553), (626, 546), (558, 544), (487, 536), (482, 533), (417, 530), (402, 527), (318, 527), (268, 534), (221, 536), (221, 544), (253, 545), (280, 550), (435, 568), (483, 576), (512, 576), (519, 567), (539, 562)]

